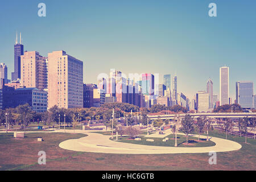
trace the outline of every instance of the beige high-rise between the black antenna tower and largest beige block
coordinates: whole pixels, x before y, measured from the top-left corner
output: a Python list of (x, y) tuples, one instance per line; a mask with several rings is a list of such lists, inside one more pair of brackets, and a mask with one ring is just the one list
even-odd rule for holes
[(20, 56), (21, 86), (26, 88), (47, 89), (47, 66), (46, 57), (36, 51), (24, 52)]

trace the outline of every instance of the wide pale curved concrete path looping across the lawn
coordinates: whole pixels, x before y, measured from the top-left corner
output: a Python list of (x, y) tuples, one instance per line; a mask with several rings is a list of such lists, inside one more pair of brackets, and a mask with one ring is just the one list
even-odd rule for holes
[[(208, 153), (228, 152), (239, 150), (242, 146), (231, 140), (212, 137), (210, 140), (216, 143), (212, 147), (160, 147), (146, 146), (142, 144), (132, 144), (115, 142), (110, 140), (110, 135), (102, 135), (97, 133), (85, 133), (88, 137), (80, 139), (65, 140), (59, 144), (60, 148), (81, 152), (96, 152), (106, 154), (185, 154), (185, 153)], [(181, 133), (179, 133), (181, 134)], [(193, 135), (198, 137), (198, 135)], [(200, 138), (207, 138), (202, 136)]]

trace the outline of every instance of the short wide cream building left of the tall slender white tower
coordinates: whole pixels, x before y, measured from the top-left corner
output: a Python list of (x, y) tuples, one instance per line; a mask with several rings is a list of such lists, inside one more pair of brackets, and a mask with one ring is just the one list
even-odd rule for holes
[(196, 93), (196, 107), (197, 111), (207, 112), (209, 109), (209, 93), (205, 91), (199, 91)]

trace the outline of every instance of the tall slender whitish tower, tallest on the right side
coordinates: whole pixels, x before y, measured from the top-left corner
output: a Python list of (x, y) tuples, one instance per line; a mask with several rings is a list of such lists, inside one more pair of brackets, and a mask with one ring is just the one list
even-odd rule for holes
[(220, 105), (229, 104), (229, 67), (220, 68)]

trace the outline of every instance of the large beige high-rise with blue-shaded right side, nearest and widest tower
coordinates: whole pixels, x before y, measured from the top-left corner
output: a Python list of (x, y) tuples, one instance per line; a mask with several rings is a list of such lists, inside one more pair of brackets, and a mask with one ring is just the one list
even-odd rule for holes
[(83, 107), (83, 63), (65, 51), (48, 53), (48, 100), (64, 108)]

